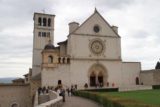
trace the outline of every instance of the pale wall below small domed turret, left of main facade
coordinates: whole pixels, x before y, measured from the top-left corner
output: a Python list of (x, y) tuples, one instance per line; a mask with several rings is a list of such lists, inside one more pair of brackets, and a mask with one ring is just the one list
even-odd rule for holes
[(61, 80), (64, 86), (70, 86), (70, 66), (59, 64), (57, 68), (43, 69), (41, 78), (42, 86), (57, 86), (58, 80)]

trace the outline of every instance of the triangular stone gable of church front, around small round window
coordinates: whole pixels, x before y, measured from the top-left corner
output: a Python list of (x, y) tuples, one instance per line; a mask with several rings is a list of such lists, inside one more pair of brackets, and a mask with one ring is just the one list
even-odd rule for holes
[[(99, 32), (94, 31), (94, 26), (97, 25), (100, 28)], [(95, 11), (94, 14), (81, 24), (73, 33), (119, 37), (108, 22), (97, 11)]]

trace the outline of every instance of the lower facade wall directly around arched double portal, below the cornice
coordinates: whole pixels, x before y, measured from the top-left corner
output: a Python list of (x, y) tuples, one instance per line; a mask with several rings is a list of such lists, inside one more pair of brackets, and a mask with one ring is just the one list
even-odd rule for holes
[[(89, 69), (92, 65), (99, 63), (106, 68), (108, 74), (107, 82), (119, 86), (121, 83), (121, 62), (120, 61), (90, 61), (90, 60), (74, 60), (71, 65), (71, 83), (78, 84), (79, 88), (83, 88), (85, 83), (89, 84)], [(116, 66), (116, 67), (115, 67)]]

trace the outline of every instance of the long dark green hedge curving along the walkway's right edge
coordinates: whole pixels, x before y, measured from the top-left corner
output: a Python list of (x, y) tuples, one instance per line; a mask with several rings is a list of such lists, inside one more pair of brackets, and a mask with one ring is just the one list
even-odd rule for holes
[(99, 103), (103, 107), (158, 107), (155, 105), (144, 104), (135, 100), (122, 99), (120, 97), (113, 97), (107, 95), (104, 96), (96, 92), (76, 91), (74, 94), (76, 96), (91, 99)]

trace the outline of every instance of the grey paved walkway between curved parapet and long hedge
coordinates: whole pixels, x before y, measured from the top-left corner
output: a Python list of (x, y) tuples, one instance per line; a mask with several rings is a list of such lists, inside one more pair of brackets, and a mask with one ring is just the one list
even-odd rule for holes
[(62, 107), (100, 107), (100, 105), (98, 105), (94, 101), (85, 98), (76, 96), (66, 96), (66, 102), (64, 102)]

